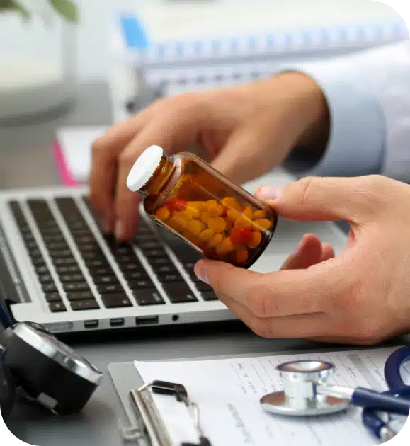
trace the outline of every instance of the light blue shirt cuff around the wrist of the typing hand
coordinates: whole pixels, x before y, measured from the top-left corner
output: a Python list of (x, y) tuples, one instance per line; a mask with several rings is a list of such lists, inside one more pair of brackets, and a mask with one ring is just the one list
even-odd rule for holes
[(280, 69), (307, 74), (321, 88), (330, 113), (329, 142), (321, 157), (295, 148), (284, 162), (292, 173), (311, 176), (360, 176), (380, 173), (385, 117), (377, 95), (346, 61), (300, 64)]

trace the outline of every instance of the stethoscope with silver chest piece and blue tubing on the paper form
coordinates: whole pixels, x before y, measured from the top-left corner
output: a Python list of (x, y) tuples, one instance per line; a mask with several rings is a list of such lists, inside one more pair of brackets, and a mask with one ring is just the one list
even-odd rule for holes
[(344, 411), (350, 405), (363, 407), (362, 421), (377, 438), (389, 440), (397, 435), (383, 421), (381, 413), (410, 416), (410, 386), (404, 384), (400, 367), (410, 360), (410, 345), (394, 351), (385, 363), (388, 391), (329, 384), (335, 366), (320, 360), (298, 360), (278, 365), (283, 391), (263, 396), (262, 408), (277, 415), (318, 416)]

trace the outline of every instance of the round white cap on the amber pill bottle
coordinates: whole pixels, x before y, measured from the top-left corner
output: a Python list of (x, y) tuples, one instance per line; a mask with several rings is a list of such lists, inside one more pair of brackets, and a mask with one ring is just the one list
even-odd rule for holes
[(159, 166), (164, 150), (159, 146), (149, 146), (135, 161), (127, 177), (127, 188), (137, 192), (152, 177)]

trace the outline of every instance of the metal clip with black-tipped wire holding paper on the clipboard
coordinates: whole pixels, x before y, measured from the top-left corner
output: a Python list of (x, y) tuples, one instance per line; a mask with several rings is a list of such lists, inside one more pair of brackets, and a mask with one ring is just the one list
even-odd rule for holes
[(150, 384), (144, 384), (139, 389), (130, 391), (132, 410), (138, 422), (137, 425), (122, 429), (124, 444), (139, 445), (140, 440), (149, 438), (149, 446), (173, 446), (166, 425), (149, 390), (154, 394), (174, 396), (178, 403), (185, 404), (189, 409), (195, 430), (198, 433), (198, 443), (183, 442), (180, 446), (212, 446), (200, 427), (198, 405), (190, 401), (186, 388), (182, 384), (166, 381), (153, 381)]

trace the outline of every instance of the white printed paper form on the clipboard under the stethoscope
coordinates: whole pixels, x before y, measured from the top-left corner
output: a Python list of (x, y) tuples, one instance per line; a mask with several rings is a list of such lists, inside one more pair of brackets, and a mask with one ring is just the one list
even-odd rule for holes
[[(320, 417), (290, 418), (266, 413), (259, 406), (263, 394), (282, 389), (275, 367), (290, 360), (334, 362), (329, 382), (348, 387), (386, 390), (385, 361), (395, 348), (377, 348), (321, 354), (258, 356), (222, 360), (135, 362), (144, 382), (161, 379), (183, 384), (200, 409), (200, 424), (212, 446), (266, 445), (380, 445), (361, 423), (361, 409)], [(409, 367), (403, 370), (410, 381)], [(193, 422), (182, 403), (171, 396), (153, 395), (174, 445), (198, 442)], [(180, 405), (178, 407), (178, 405)], [(407, 418), (403, 417), (403, 427)], [(401, 421), (400, 421), (401, 423)], [(399, 423), (399, 425), (400, 425)], [(400, 428), (401, 429), (401, 428)]]

